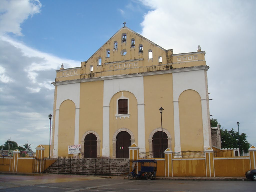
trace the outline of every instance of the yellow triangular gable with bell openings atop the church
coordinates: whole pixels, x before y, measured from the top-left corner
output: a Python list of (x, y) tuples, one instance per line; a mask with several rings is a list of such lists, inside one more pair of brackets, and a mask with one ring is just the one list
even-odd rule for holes
[[(139, 62), (151, 58), (148, 57), (150, 51), (152, 51), (152, 57), (155, 59), (159, 56), (164, 57), (166, 55), (166, 50), (164, 48), (129, 29), (128, 27), (122, 27), (107, 42), (105, 42), (105, 44), (102, 45), (86, 61), (86, 63), (87, 65), (92, 65), (93, 67), (101, 67), (103, 65), (107, 65), (109, 67), (110, 65), (113, 65), (112, 68), (116, 69), (117, 67), (124, 67), (124, 64), (121, 64), (120, 67), (119, 63), (127, 62), (127, 67), (136, 67)], [(101, 59), (100, 62), (98, 61), (99, 59)], [(149, 60), (148, 62), (148, 65), (153, 65), (153, 59)], [(129, 64), (131, 66), (129, 66)], [(158, 64), (158, 62), (154, 64)]]

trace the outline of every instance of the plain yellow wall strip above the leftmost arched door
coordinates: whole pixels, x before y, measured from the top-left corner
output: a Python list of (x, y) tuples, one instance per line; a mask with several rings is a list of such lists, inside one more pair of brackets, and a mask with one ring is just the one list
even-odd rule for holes
[[(79, 143), (87, 131), (95, 131), (102, 141), (103, 81), (80, 84)], [(102, 149), (102, 143), (101, 143)], [(100, 155), (102, 151), (100, 150)]]

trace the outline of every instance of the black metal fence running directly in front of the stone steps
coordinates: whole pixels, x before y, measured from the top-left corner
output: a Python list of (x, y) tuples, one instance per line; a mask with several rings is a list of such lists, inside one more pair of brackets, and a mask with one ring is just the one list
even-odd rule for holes
[(110, 175), (110, 158), (84, 158), (84, 153), (77, 156), (58, 157), (59, 174), (78, 174), (78, 175)]

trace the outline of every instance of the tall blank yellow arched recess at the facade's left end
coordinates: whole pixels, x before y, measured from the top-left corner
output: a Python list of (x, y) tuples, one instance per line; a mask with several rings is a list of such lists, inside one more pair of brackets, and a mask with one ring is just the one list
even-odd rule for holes
[[(58, 155), (68, 155), (68, 145), (74, 145), (76, 106), (73, 101), (65, 100), (60, 105)], [(73, 155), (69, 155), (73, 156)]]

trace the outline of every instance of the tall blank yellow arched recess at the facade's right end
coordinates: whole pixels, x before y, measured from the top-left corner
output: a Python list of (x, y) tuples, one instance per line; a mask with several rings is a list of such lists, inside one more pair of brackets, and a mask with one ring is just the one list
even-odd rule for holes
[(203, 151), (201, 97), (195, 90), (185, 90), (179, 96), (181, 151)]

